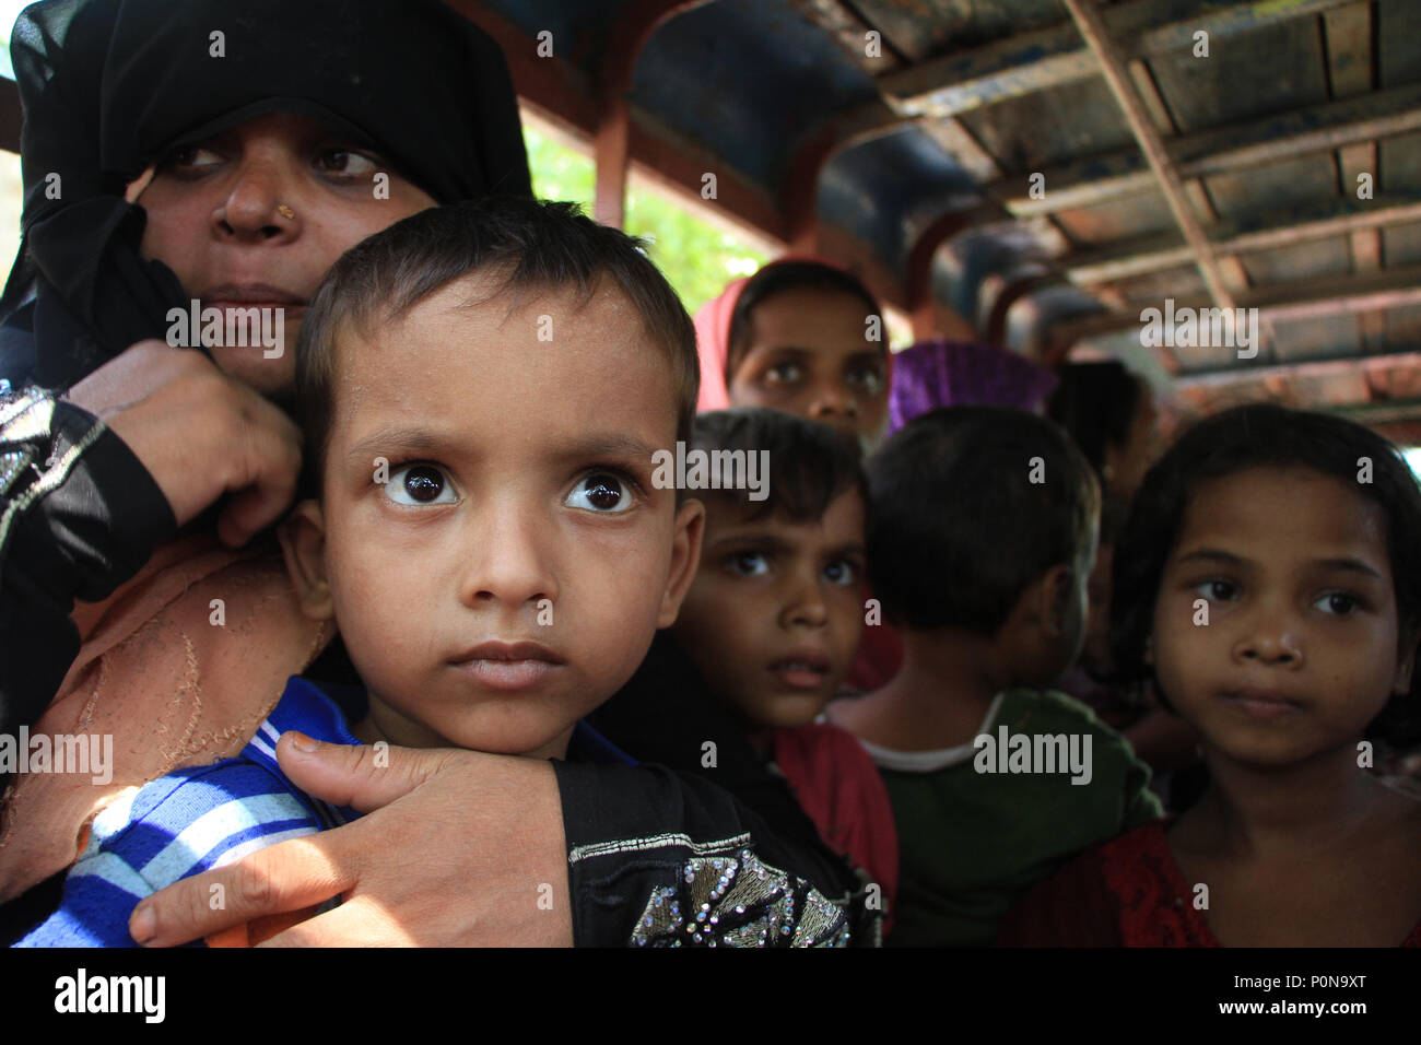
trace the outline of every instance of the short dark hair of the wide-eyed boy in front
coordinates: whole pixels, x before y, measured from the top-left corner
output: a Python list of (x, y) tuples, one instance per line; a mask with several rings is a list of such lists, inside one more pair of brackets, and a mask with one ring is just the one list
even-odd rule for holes
[(296, 344), (297, 408), (317, 489), (334, 409), (337, 338), (389, 323), (475, 272), (499, 273), (502, 290), (573, 289), (584, 300), (610, 277), (671, 361), (676, 438), (689, 438), (701, 384), (696, 331), (639, 240), (598, 225), (577, 203), (487, 196), (395, 222), (347, 250), (325, 274)]

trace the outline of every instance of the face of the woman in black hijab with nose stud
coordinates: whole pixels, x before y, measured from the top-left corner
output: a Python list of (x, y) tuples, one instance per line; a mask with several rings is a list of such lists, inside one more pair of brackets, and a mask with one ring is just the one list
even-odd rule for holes
[(280, 354), (252, 344), (256, 338), (246, 338), (250, 347), (212, 348), (226, 373), (274, 395), (291, 390), (296, 334), (335, 259), (435, 206), (381, 156), (288, 114), (169, 154), (136, 202), (148, 212), (142, 256), (172, 269), (189, 297), (225, 316), (281, 310)]

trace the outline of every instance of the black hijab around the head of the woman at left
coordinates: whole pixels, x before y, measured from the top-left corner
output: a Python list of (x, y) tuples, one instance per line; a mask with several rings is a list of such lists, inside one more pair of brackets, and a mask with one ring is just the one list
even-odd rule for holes
[(124, 200), (179, 145), (294, 112), (441, 203), (531, 195), (503, 55), (438, 0), (44, 0), (10, 51), (26, 198), (0, 307), (34, 286), (33, 380), (48, 388), (162, 338), (186, 304), (172, 270), (138, 256), (146, 216)]

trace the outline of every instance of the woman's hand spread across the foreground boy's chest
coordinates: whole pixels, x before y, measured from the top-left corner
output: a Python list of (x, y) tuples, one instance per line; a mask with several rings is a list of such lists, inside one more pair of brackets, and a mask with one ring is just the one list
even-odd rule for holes
[(281, 769), (333, 805), (374, 810), (169, 886), (129, 920), (168, 947), (333, 896), (269, 947), (571, 945), (567, 847), (553, 766), (475, 751), (277, 744)]

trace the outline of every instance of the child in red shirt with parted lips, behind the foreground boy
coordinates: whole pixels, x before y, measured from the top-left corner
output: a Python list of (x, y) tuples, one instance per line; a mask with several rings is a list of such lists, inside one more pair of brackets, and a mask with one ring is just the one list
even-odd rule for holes
[[(698, 414), (689, 452), (722, 465), (723, 489), (695, 492), (705, 537), (674, 641), (824, 842), (848, 857), (868, 910), (891, 913), (898, 839), (888, 795), (858, 741), (818, 721), (863, 630), (868, 485), (858, 444), (780, 411), (737, 408)], [(747, 473), (757, 489), (735, 482)]]

